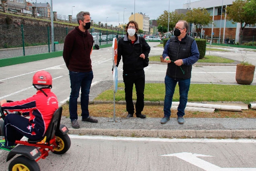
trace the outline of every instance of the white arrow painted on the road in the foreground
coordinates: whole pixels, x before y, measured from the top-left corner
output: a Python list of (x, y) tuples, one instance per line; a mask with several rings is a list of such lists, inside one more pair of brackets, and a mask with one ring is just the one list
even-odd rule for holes
[(210, 155), (183, 152), (183, 153), (174, 153), (174, 154), (167, 154), (167, 155), (161, 155), (161, 156), (178, 157), (206, 171), (256, 171), (256, 168), (222, 168), (222, 167), (213, 165), (208, 161), (204, 161), (198, 158), (198, 157), (214, 157)]

